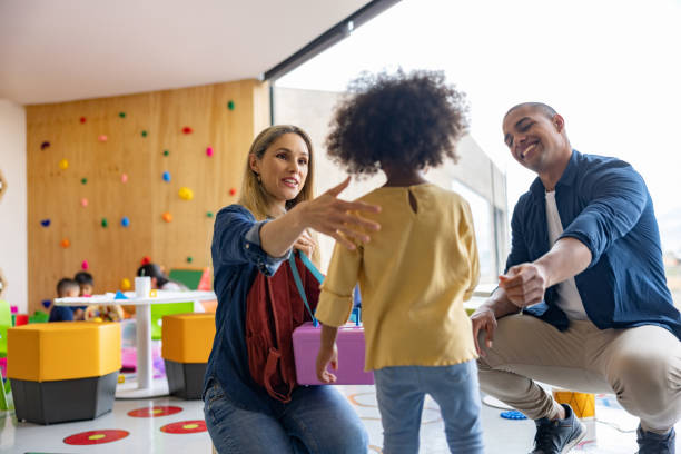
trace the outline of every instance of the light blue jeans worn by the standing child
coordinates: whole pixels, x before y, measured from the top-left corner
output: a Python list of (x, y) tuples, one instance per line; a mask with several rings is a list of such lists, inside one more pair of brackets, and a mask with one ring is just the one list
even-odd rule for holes
[(383, 424), (383, 453), (417, 453), (426, 393), (440, 405), (452, 453), (482, 454), (475, 361), (453, 366), (397, 366), (374, 371)]

